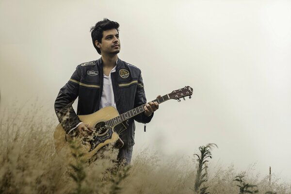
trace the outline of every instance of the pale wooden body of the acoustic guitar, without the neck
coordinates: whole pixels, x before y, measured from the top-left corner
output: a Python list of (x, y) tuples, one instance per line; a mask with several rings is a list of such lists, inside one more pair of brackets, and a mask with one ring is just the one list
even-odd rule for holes
[[(112, 107), (104, 107), (100, 109), (99, 111), (87, 114), (87, 115), (79, 115), (78, 117), (83, 123), (86, 123), (89, 125), (89, 127), (92, 127), (93, 130), (98, 130), (96, 126), (104, 125), (104, 122), (118, 116), (118, 111)], [(120, 124), (121, 125), (121, 124)], [(124, 125), (123, 125), (124, 126)], [(123, 127), (118, 126), (118, 127)], [(87, 138), (86, 137), (80, 141), (77, 142), (77, 146), (80, 146), (81, 153), (84, 153), (82, 156), (82, 159), (87, 161), (91, 159), (96, 152), (103, 146), (109, 145), (109, 144), (115, 144), (118, 143), (119, 147), (123, 146), (122, 140), (119, 138), (118, 134), (114, 131), (114, 128), (117, 126), (114, 126), (113, 128), (106, 129), (104, 131), (99, 131), (100, 133), (96, 135), (92, 135), (92, 137)], [(123, 127), (123, 129), (125, 129)], [(66, 134), (65, 130), (63, 129), (62, 125), (59, 124), (54, 132), (54, 144), (55, 149), (58, 154), (63, 160), (66, 162), (72, 162), (72, 151), (70, 148), (69, 141), (70, 140), (78, 140), (77, 137), (72, 137), (68, 134)], [(85, 141), (84, 141), (85, 140)]]

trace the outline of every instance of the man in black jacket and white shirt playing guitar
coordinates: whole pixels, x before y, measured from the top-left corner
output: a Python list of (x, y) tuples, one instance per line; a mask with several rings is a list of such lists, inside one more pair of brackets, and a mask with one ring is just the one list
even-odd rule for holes
[[(82, 123), (77, 114), (91, 114), (106, 106), (115, 107), (121, 114), (146, 104), (145, 112), (130, 118), (127, 129), (119, 134), (124, 146), (119, 149), (118, 159), (129, 164), (134, 145), (134, 120), (141, 123), (150, 122), (159, 104), (146, 103), (141, 70), (118, 58), (118, 28), (117, 22), (106, 18), (91, 28), (92, 42), (101, 58), (77, 66), (71, 79), (61, 88), (56, 98), (55, 112), (69, 135), (77, 133), (88, 136), (93, 129), (87, 123)], [(79, 99), (76, 114), (72, 103), (77, 97)]]

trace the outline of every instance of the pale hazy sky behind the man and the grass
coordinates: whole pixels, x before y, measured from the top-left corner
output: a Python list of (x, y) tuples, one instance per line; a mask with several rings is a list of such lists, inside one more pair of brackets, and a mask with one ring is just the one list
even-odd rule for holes
[(76, 66), (100, 57), (89, 31), (104, 17), (120, 24), (118, 56), (142, 70), (148, 101), (194, 89), (161, 104), (146, 132), (137, 124), (134, 156), (216, 143), (213, 165), (271, 165), (291, 181), (288, 0), (1, 0), (1, 107), (38, 97), (53, 115)]

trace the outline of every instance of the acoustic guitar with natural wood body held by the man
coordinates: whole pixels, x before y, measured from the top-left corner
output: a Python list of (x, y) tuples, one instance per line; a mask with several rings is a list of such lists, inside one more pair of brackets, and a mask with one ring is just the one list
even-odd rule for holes
[[(181, 101), (180, 98), (184, 98), (185, 100), (187, 96), (191, 98), (192, 94), (193, 89), (190, 86), (185, 86), (184, 88), (174, 90), (170, 94), (159, 97), (152, 102), (161, 104), (169, 99)], [(80, 120), (83, 123), (89, 124), (89, 127), (94, 131), (87, 137), (70, 136), (66, 134), (62, 125), (59, 124), (54, 132), (54, 144), (58, 156), (66, 160), (66, 162), (69, 162), (67, 160), (71, 158), (72, 153), (69, 143), (70, 140), (80, 140), (75, 142), (80, 147), (80, 151), (83, 153), (82, 159), (85, 161), (90, 160), (100, 148), (106, 145), (114, 144), (116, 147), (122, 147), (123, 142), (116, 131), (126, 129), (126, 121), (137, 114), (143, 113), (145, 111), (144, 106), (145, 104), (120, 115), (112, 106), (104, 107), (92, 114), (78, 115)]]

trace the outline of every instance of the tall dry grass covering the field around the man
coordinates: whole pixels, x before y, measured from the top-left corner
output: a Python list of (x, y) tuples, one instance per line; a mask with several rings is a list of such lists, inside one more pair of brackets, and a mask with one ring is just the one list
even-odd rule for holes
[(239, 194), (239, 183), (234, 179), (243, 176), (243, 183), (257, 185), (259, 194), (291, 194), (290, 184), (279, 183), (275, 177), (269, 182), (269, 177), (259, 179), (247, 172), (238, 173), (233, 166), (209, 174), (204, 168), (208, 162), (199, 167), (202, 161), (196, 161), (202, 153), (196, 153), (192, 160), (174, 158), (162, 162), (157, 153), (145, 149), (130, 166), (122, 167), (113, 162), (116, 151), (108, 151), (103, 159), (90, 165), (79, 161), (67, 166), (54, 150), (57, 119), (38, 107), (2, 113), (1, 194), (200, 194), (202, 188), (195, 189), (195, 182), (201, 178), (197, 172), (206, 173), (201, 184), (206, 188), (204, 193)]

